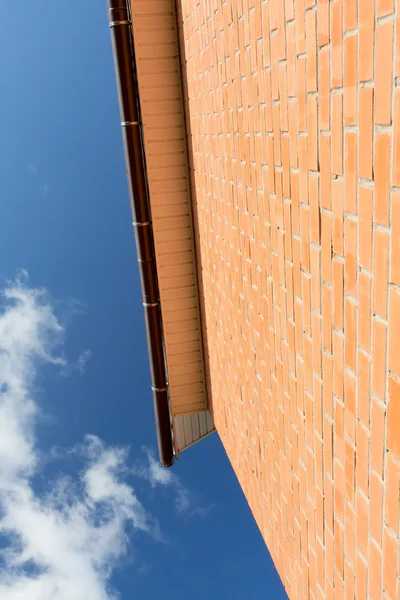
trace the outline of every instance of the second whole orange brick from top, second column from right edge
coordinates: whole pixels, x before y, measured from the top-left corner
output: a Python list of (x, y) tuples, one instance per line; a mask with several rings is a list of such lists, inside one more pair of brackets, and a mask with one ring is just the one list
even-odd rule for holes
[(390, 134), (376, 133), (374, 159), (374, 222), (389, 225)]

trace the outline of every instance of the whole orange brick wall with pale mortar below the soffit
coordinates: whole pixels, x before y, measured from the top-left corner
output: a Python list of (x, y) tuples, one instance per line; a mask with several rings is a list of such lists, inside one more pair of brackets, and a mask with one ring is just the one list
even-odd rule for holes
[(398, 599), (400, 2), (178, 9), (217, 429), (290, 598)]

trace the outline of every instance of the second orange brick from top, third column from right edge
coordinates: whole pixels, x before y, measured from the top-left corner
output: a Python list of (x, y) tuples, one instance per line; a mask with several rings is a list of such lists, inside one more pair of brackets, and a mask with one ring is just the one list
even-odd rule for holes
[(360, 88), (358, 174), (366, 179), (372, 179), (373, 99), (373, 88)]

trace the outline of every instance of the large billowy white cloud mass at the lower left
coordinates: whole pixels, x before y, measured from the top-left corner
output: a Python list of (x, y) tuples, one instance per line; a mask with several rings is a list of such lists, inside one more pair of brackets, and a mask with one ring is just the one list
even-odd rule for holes
[[(33, 397), (41, 362), (65, 366), (64, 329), (44, 290), (30, 289), (25, 274), (4, 291), (0, 313), (0, 535), (2, 600), (114, 600), (113, 568), (126, 552), (129, 532), (160, 537), (157, 523), (124, 477), (127, 450), (86, 436), (74, 479), (59, 477), (38, 494), (39, 453)], [(151, 480), (161, 482), (150, 462)], [(166, 482), (166, 480), (165, 480)]]

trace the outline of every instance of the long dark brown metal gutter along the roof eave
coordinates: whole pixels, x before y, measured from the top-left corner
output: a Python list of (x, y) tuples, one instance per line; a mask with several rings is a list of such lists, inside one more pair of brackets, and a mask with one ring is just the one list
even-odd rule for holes
[(127, 0), (107, 1), (126, 171), (142, 283), (158, 449), (161, 465), (170, 467), (174, 461), (172, 428), (130, 13)]

